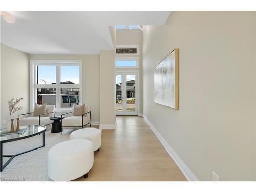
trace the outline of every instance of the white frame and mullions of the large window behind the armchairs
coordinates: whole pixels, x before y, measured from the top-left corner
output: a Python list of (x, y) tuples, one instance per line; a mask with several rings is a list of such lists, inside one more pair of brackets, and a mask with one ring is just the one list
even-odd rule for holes
[[(36, 66), (54, 65), (56, 66), (56, 84), (37, 84)], [(60, 84), (61, 69), (60, 66), (79, 66), (79, 84)], [(81, 60), (30, 60), (30, 110), (34, 110), (37, 103), (38, 88), (56, 88), (56, 111), (71, 111), (70, 108), (60, 107), (60, 89), (61, 88), (79, 88), (79, 103), (82, 101), (82, 61)]]

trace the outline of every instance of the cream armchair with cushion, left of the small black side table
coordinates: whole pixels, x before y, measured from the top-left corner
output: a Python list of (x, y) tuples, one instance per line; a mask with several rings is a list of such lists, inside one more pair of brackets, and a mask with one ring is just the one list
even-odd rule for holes
[(20, 114), (18, 116), (19, 117), (19, 125), (24, 126), (24, 125), (49, 125), (49, 124), (52, 124), (53, 121), (50, 120), (49, 118), (52, 116), (55, 116), (55, 114), (56, 114), (55, 105), (47, 105), (45, 114), (40, 114), (39, 116), (20, 118), (20, 116), (30, 115), (33, 113), (34, 112)]

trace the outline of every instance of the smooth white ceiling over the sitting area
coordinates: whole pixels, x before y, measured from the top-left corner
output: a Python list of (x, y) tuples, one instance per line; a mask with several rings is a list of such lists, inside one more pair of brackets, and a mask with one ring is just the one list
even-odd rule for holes
[(108, 26), (164, 25), (168, 11), (25, 11), (1, 18), (1, 42), (29, 54), (99, 54), (113, 49)]

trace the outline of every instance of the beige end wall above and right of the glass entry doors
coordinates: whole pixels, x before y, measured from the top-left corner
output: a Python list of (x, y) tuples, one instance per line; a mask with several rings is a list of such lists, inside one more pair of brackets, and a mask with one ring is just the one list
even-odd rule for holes
[[(127, 70), (139, 70), (140, 72), (140, 111), (143, 112), (143, 68), (142, 68), (142, 47), (143, 47), (143, 36), (142, 31), (140, 29), (130, 30), (130, 29), (118, 29), (116, 30), (116, 44), (117, 45), (139, 45), (140, 55), (139, 56), (125, 56), (125, 57), (139, 57), (140, 68), (139, 69), (131, 69)], [(116, 56), (118, 58), (118, 56)], [(120, 56), (124, 57), (124, 56)], [(117, 69), (119, 70), (119, 69)], [(125, 69), (120, 69), (125, 70)]]

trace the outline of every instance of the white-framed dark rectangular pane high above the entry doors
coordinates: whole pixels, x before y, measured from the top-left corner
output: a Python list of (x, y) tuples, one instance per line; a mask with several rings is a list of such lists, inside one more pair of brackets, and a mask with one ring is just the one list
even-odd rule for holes
[(116, 55), (139, 55), (139, 45), (117, 45)]

